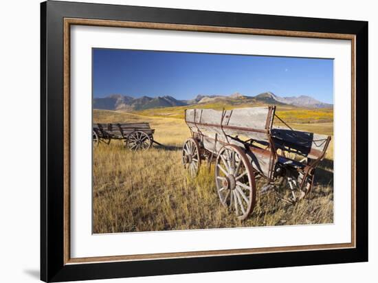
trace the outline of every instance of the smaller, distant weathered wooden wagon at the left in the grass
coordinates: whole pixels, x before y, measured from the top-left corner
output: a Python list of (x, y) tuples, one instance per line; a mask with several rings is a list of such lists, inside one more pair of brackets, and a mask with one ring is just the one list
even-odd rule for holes
[(111, 139), (122, 139), (125, 146), (131, 150), (147, 150), (153, 143), (159, 144), (153, 139), (155, 129), (150, 124), (144, 123), (109, 123), (93, 124), (93, 143), (110, 144)]

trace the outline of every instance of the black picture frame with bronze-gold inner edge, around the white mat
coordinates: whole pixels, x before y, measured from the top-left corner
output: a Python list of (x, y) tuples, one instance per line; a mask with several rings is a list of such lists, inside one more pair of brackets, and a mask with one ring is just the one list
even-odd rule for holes
[[(352, 43), (351, 242), (70, 257), (70, 27), (333, 38)], [(41, 3), (41, 280), (59, 282), (368, 260), (368, 23), (293, 16), (47, 1)]]

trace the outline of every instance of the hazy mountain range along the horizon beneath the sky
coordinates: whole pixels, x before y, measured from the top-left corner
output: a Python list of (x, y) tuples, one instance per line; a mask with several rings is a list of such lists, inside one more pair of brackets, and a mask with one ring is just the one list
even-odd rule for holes
[(151, 98), (142, 96), (133, 98), (128, 95), (109, 95), (105, 98), (93, 98), (93, 109), (105, 110), (122, 110), (137, 111), (152, 108), (170, 107), (170, 106), (186, 106), (193, 104), (207, 104), (214, 102), (222, 102), (225, 104), (274, 104), (274, 105), (291, 105), (311, 109), (332, 108), (333, 104), (328, 104), (315, 100), (311, 96), (300, 95), (291, 97), (280, 97), (271, 92), (260, 93), (256, 96), (242, 95), (241, 93), (233, 93), (232, 95), (197, 95), (192, 100), (177, 100), (172, 96), (158, 96)]

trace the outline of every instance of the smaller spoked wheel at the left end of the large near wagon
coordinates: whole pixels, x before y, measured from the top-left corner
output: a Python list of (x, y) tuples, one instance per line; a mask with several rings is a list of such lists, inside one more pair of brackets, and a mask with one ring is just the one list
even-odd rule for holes
[(195, 177), (199, 172), (201, 166), (201, 159), (199, 157), (199, 144), (190, 137), (184, 142), (182, 148), (182, 163), (184, 168), (188, 170), (191, 177)]

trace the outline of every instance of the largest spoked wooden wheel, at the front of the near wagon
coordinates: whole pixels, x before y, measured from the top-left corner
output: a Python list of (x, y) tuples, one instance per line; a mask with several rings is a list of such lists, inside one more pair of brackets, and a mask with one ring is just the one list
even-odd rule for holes
[(227, 144), (219, 150), (215, 163), (215, 183), (219, 199), (244, 220), (254, 210), (256, 181), (251, 162), (238, 146)]

